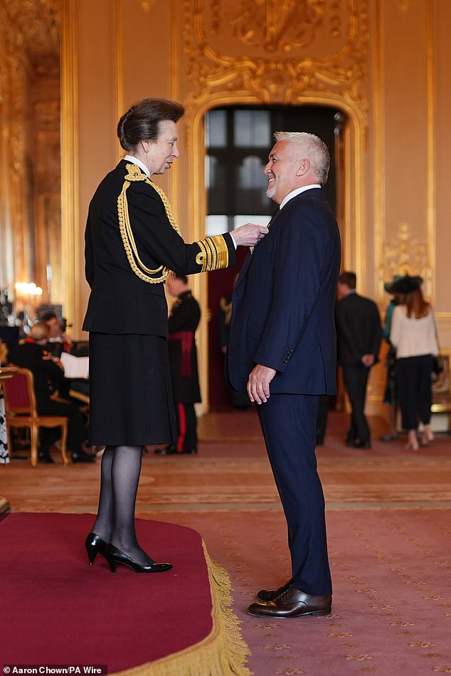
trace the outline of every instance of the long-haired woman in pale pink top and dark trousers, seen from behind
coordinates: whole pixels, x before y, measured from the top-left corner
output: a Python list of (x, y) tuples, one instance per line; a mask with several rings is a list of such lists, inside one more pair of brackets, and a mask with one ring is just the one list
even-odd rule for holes
[(393, 284), (393, 293), (403, 294), (393, 311), (390, 341), (396, 347), (396, 382), (403, 428), (408, 431), (407, 449), (418, 450), (418, 421), (423, 422), (421, 443), (433, 441), (430, 426), (432, 389), (430, 374), (437, 355), (437, 331), (433, 307), (423, 298), (421, 277), (405, 275)]

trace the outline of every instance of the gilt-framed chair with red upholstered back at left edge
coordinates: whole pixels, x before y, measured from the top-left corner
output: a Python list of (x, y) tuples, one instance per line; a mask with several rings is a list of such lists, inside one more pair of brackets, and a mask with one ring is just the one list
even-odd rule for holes
[(68, 419), (64, 416), (38, 415), (34, 394), (33, 373), (28, 368), (18, 368), (9, 380), (3, 382), (3, 394), (6, 412), (6, 434), (11, 449), (11, 427), (29, 427), (31, 434), (31, 464), (38, 464), (38, 443), (40, 427), (61, 427), (61, 455), (63, 463), (69, 464), (66, 453), (68, 438)]

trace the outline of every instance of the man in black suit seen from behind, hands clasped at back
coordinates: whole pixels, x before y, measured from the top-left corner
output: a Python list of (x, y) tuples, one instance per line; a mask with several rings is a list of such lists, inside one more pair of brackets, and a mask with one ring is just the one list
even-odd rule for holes
[(351, 426), (345, 443), (371, 449), (371, 432), (365, 416), (366, 385), (371, 367), (378, 362), (382, 340), (378, 306), (356, 293), (355, 272), (342, 272), (335, 309), (338, 359), (351, 404)]

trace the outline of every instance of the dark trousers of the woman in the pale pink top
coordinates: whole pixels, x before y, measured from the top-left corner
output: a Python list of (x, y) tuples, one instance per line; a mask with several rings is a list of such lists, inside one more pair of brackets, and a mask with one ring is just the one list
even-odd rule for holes
[(417, 429), (418, 420), (430, 423), (432, 355), (405, 357), (396, 363), (396, 383), (403, 429)]

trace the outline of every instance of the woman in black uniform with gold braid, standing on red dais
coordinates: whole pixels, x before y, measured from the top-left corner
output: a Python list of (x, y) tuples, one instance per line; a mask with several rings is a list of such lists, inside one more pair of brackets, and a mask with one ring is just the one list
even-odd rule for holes
[(127, 152), (93, 196), (85, 231), (91, 287), (83, 329), (90, 332), (90, 442), (105, 446), (99, 508), (85, 547), (115, 572), (169, 570), (137, 542), (134, 505), (144, 446), (175, 443), (164, 282), (176, 274), (235, 263), (235, 246), (255, 245), (265, 227), (185, 244), (169, 200), (151, 181), (179, 157), (181, 104), (144, 99), (122, 115), (117, 135)]

